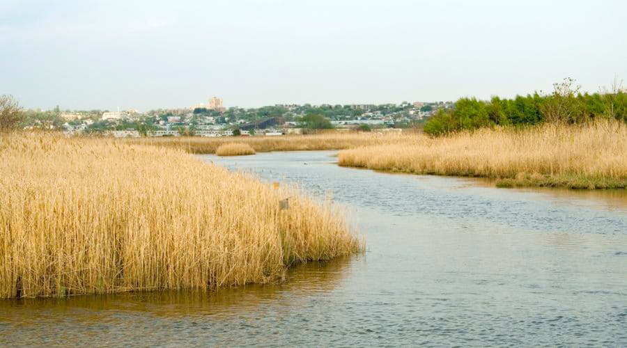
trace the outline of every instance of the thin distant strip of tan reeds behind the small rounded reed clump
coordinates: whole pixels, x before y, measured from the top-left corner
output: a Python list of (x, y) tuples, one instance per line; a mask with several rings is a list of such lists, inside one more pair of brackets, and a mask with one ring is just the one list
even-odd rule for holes
[(357, 132), (330, 132), (311, 135), (287, 136), (221, 136), (216, 138), (165, 137), (120, 139), (123, 143), (148, 144), (166, 148), (176, 148), (194, 154), (215, 153), (220, 145), (226, 143), (245, 143), (256, 152), (300, 151), (300, 150), (343, 150), (365, 145), (402, 143), (410, 136), (407, 134), (380, 134)]

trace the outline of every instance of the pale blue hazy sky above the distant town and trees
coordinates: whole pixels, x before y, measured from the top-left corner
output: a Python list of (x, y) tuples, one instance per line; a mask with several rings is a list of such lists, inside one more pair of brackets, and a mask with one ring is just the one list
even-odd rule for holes
[(0, 0), (26, 108), (382, 104), (627, 79), (627, 1)]

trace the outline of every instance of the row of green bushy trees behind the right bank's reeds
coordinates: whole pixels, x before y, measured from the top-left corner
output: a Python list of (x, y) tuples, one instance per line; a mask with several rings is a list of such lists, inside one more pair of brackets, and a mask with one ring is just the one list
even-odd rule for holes
[(627, 93), (614, 84), (612, 90), (580, 93), (573, 79), (554, 84), (549, 95), (493, 97), (490, 101), (461, 98), (453, 109), (440, 109), (424, 125), (424, 132), (442, 135), (463, 129), (495, 125), (535, 125), (540, 122), (580, 123), (595, 118), (614, 118), (627, 122)]

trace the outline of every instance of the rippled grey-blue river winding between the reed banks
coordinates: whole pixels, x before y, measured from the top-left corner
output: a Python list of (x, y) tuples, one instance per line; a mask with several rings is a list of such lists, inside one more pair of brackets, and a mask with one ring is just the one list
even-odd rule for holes
[(286, 283), (0, 301), (0, 345), (627, 346), (627, 192), (201, 156), (346, 207), (367, 251)]

